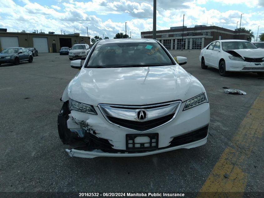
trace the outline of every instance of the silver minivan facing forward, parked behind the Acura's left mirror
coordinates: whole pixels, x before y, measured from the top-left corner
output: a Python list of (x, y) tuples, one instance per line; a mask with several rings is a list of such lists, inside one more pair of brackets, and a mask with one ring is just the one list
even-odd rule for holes
[(75, 44), (69, 51), (69, 59), (73, 58), (86, 58), (90, 51), (88, 44)]

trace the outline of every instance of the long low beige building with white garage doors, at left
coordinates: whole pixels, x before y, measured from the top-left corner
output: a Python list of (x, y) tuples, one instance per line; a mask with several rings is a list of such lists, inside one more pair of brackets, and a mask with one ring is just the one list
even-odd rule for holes
[(90, 37), (74, 34), (54, 33), (18, 33), (7, 32), (7, 29), (0, 28), (0, 49), (10, 47), (36, 48), (39, 53), (58, 53), (60, 48), (69, 47), (76, 43), (87, 43), (90, 46)]

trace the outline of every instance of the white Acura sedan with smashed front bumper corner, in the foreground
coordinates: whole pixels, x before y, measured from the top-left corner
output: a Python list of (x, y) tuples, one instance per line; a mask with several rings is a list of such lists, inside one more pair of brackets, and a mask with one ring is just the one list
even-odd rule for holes
[[(187, 58), (177, 57), (179, 64)], [(153, 39), (98, 41), (62, 95), (58, 132), (70, 156), (144, 156), (207, 142), (202, 84)]]

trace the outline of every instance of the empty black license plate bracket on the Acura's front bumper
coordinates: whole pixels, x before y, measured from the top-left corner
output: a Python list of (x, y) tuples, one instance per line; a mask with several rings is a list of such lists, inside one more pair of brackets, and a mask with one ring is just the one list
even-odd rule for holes
[[(142, 138), (142, 141), (137, 140)], [(136, 140), (136, 141), (135, 141)], [(126, 134), (126, 150), (152, 150), (159, 145), (159, 134)]]

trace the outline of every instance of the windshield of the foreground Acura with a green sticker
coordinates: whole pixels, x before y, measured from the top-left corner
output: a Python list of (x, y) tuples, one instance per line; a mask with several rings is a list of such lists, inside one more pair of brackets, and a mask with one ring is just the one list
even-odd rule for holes
[(157, 43), (98, 43), (87, 67), (142, 67), (173, 65)]

